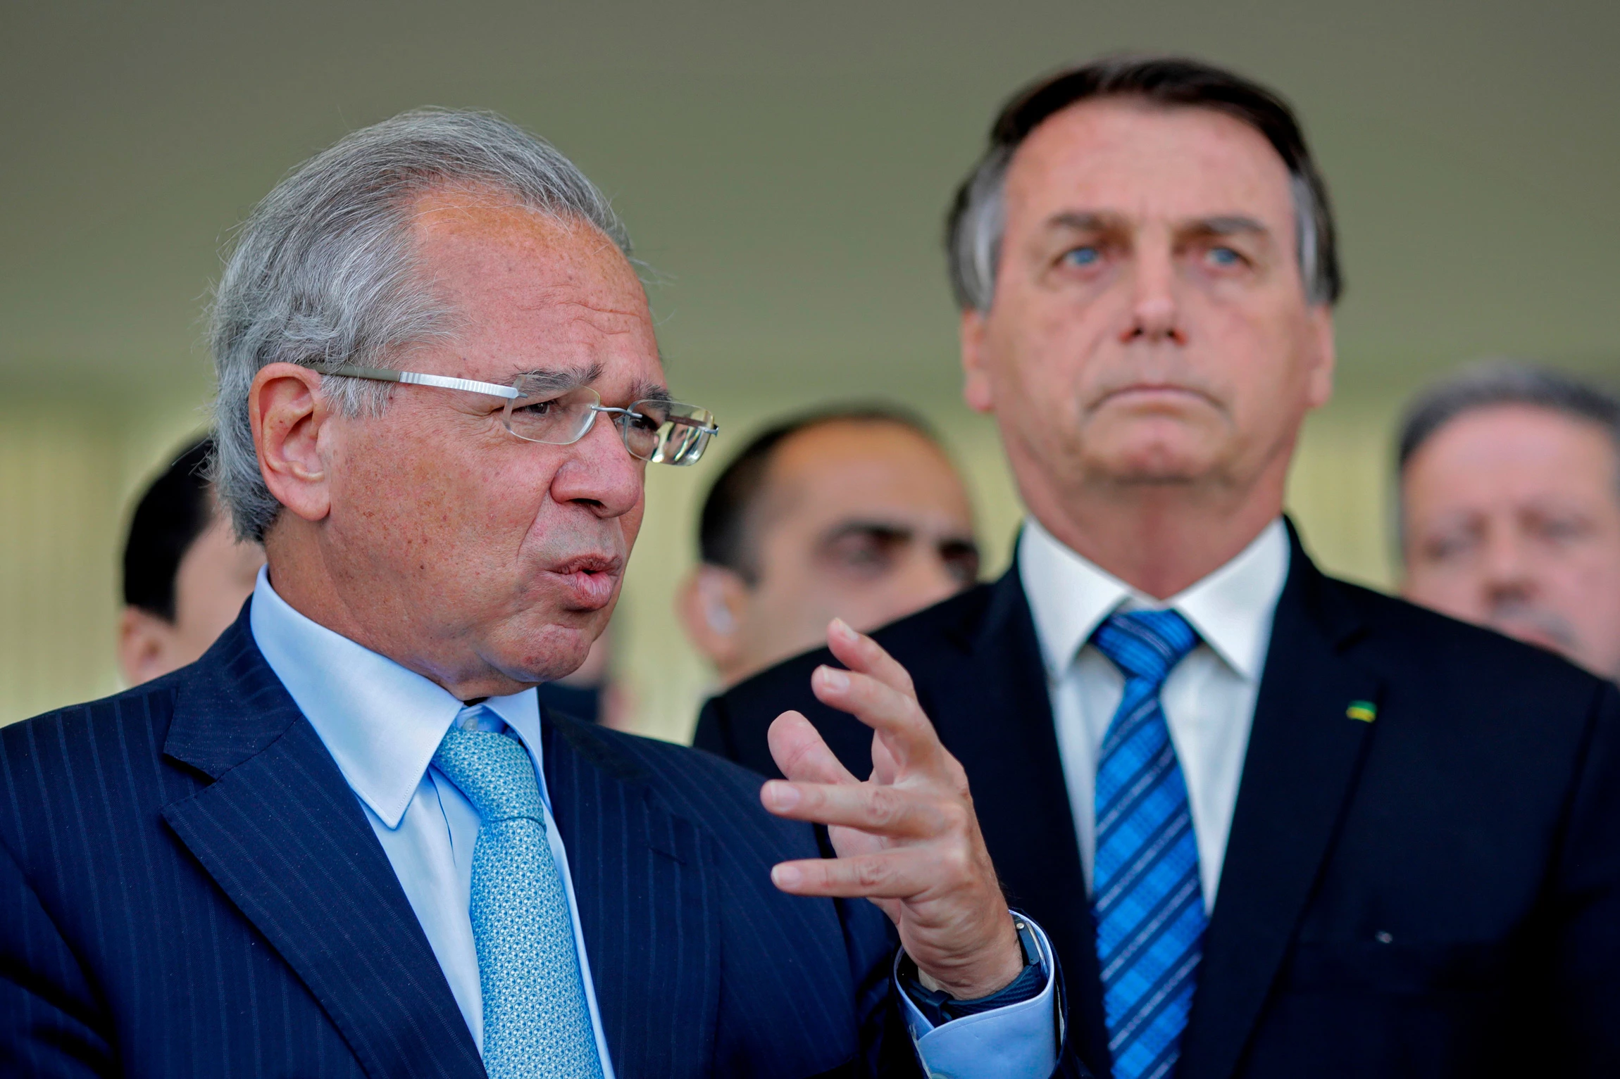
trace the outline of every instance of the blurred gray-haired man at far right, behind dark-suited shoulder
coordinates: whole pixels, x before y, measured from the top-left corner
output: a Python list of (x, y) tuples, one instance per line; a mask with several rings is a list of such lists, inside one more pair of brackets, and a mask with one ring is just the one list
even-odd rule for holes
[(1620, 401), (1481, 364), (1400, 438), (1401, 594), (1620, 678)]

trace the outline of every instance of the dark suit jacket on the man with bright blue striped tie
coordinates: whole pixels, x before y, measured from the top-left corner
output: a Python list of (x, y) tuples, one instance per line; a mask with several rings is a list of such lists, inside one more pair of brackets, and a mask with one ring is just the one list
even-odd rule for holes
[[(1545, 652), (1322, 576), (1291, 532), (1178, 1079), (1620, 1076), (1620, 696)], [(1079, 1051), (1106, 1032), (1047, 675), (1014, 566), (876, 639), (962, 762), (1008, 898), (1047, 929)], [(773, 773), (799, 709), (857, 775), (815, 652), (711, 700)], [(1346, 715), (1377, 709), (1372, 723)]]

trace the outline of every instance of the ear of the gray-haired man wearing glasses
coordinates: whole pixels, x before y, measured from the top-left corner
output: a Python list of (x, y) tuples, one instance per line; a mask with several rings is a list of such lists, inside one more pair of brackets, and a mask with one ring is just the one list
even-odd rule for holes
[(321, 429), (332, 413), (319, 390), (321, 375), (298, 364), (266, 364), (248, 390), (248, 419), (264, 485), (305, 521), (321, 521), (332, 511), (321, 459)]

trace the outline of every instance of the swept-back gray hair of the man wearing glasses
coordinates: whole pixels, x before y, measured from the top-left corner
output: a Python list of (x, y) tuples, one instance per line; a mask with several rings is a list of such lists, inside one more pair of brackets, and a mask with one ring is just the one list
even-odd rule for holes
[[(454, 312), (416, 273), (410, 230), (416, 199), (457, 184), (593, 225), (630, 254), (624, 225), (573, 162), (492, 113), (405, 112), (295, 168), (241, 226), (211, 312), (212, 476), (240, 537), (262, 542), (280, 513), (253, 446), (254, 375), (274, 362), (387, 367), (399, 348), (449, 333)], [(390, 390), (339, 375), (321, 385), (343, 416), (381, 414)]]

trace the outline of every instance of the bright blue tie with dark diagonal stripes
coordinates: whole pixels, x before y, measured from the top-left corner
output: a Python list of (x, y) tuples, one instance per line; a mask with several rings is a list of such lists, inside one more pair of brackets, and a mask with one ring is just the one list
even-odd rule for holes
[(1158, 691), (1199, 642), (1174, 611), (1115, 615), (1092, 644), (1124, 673), (1097, 764), (1092, 912), (1115, 1079), (1168, 1076), (1204, 954), (1187, 785)]

